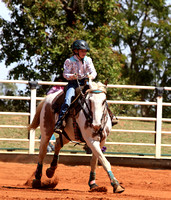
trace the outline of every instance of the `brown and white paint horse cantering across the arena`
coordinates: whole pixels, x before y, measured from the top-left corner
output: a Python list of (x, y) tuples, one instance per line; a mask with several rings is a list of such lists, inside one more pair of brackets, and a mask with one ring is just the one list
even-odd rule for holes
[[(89, 89), (84, 94), (80, 89), (81, 97), (77, 98), (80, 99), (80, 109), (76, 112), (74, 119), (71, 115), (68, 115), (63, 133), (59, 134), (59, 137), (56, 139), (53, 160), (50, 167), (46, 170), (48, 178), (52, 178), (57, 169), (60, 149), (70, 141), (80, 142), (83, 139), (92, 151), (91, 170), (88, 181), (90, 190), (98, 188), (96, 184), (96, 166), (99, 161), (108, 174), (113, 192), (121, 193), (124, 191), (124, 188), (112, 173), (111, 165), (101, 150), (112, 128), (111, 118), (107, 110), (106, 85), (89, 80)], [(38, 163), (35, 179), (32, 183), (33, 188), (41, 187), (43, 160), (46, 155), (48, 142), (54, 132), (55, 121), (58, 118), (58, 114), (54, 112), (52, 104), (55, 98), (61, 96), (61, 93), (60, 91), (59, 93), (50, 94), (39, 103), (34, 119), (28, 127), (30, 130), (36, 129), (40, 125), (41, 131)], [(82, 139), (75, 137), (73, 121), (78, 125)]]

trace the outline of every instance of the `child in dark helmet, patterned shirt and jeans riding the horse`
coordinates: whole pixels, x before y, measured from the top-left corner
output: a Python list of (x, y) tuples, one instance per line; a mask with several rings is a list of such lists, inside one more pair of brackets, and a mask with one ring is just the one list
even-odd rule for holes
[(75, 89), (78, 87), (77, 78), (79, 84), (82, 86), (84, 85), (85, 78), (94, 79), (97, 75), (92, 59), (86, 56), (90, 50), (87, 42), (84, 40), (76, 40), (71, 47), (73, 56), (66, 59), (63, 72), (64, 78), (68, 80), (68, 87), (58, 121), (55, 124), (55, 132), (61, 130), (63, 117), (75, 96)]

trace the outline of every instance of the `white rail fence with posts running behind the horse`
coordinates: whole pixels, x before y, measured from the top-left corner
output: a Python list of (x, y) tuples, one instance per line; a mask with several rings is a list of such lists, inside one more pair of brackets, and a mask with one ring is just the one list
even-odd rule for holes
[[(16, 81), (16, 80), (0, 80), (0, 83), (18, 83), (18, 84), (29, 84), (31, 88), (31, 96), (0, 96), (0, 99), (15, 99), (15, 100), (30, 100), (30, 113), (24, 112), (0, 112), (0, 115), (21, 115), (21, 116), (30, 116), (30, 122), (33, 120), (36, 111), (36, 101), (42, 100), (42, 97), (36, 97), (36, 86), (38, 85), (65, 85), (66, 83), (61, 82), (29, 82), (29, 81)], [(106, 144), (111, 145), (137, 145), (137, 146), (153, 146), (155, 147), (155, 158), (161, 158), (161, 147), (171, 147), (171, 144), (162, 144), (161, 138), (162, 134), (171, 134), (171, 131), (162, 131), (162, 122), (171, 122), (170, 118), (162, 118), (162, 109), (163, 106), (171, 106), (171, 103), (164, 103), (162, 97), (162, 90), (171, 91), (171, 87), (156, 88), (153, 86), (132, 86), (132, 85), (108, 85), (109, 88), (126, 88), (126, 89), (148, 89), (158, 91), (158, 96), (156, 102), (142, 102), (142, 101), (114, 101), (108, 100), (108, 104), (129, 104), (129, 105), (154, 105), (156, 106), (156, 117), (118, 117), (118, 119), (123, 120), (143, 120), (143, 121), (155, 121), (156, 129), (155, 131), (151, 130), (120, 130), (112, 129), (114, 132), (127, 132), (127, 133), (153, 133), (156, 138), (155, 144), (150, 143), (124, 143), (124, 142), (107, 142)], [(0, 128), (26, 128), (26, 126), (15, 126), (15, 125), (0, 125)], [(12, 138), (0, 138), (0, 141), (27, 141), (29, 142), (29, 154), (34, 154), (35, 149), (35, 131), (30, 131), (29, 139), (12, 139)]]

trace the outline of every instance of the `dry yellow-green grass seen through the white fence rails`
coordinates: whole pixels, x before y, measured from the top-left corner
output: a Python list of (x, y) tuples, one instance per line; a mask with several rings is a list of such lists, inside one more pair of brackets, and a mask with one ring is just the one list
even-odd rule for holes
[[(0, 115), (1, 125), (28, 125), (28, 117), (26, 116), (4, 116)], [(120, 120), (119, 124), (114, 126), (113, 129), (126, 129), (126, 130), (155, 130), (155, 122), (145, 121), (126, 121)], [(162, 131), (171, 131), (171, 123), (163, 123)], [(27, 129), (16, 128), (0, 128), (0, 138), (28, 138)], [(36, 139), (39, 139), (40, 130), (36, 130)], [(55, 135), (58, 136), (57, 134)], [(150, 143), (155, 144), (155, 134), (152, 133), (127, 133), (127, 132), (111, 132), (107, 138), (108, 142), (126, 142), (126, 143)], [(171, 144), (171, 134), (162, 134), (162, 144)], [(155, 147), (151, 146), (130, 146), (130, 145), (105, 145), (107, 152), (115, 154), (130, 153), (130, 154), (155, 154)], [(21, 148), (28, 149), (28, 142), (9, 142), (0, 141), (0, 148)], [(39, 148), (39, 142), (36, 142), (35, 148)], [(63, 150), (70, 151), (83, 151), (83, 146), (74, 144), (67, 144)], [(162, 154), (170, 154), (171, 147), (162, 147)]]

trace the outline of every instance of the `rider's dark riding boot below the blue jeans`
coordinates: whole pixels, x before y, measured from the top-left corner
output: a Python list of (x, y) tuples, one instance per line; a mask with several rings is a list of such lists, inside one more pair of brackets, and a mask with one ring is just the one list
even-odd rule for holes
[(61, 107), (61, 111), (59, 113), (58, 121), (55, 124), (54, 132), (58, 133), (61, 132), (62, 129), (62, 122), (65, 117), (65, 114), (68, 110), (69, 106), (67, 104), (63, 104)]

